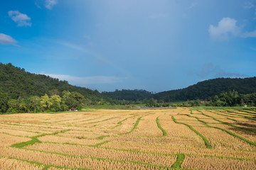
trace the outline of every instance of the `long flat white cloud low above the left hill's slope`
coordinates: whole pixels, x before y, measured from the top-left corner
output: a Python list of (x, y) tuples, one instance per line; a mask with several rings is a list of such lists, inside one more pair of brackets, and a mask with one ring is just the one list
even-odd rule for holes
[(83, 86), (87, 84), (113, 84), (119, 81), (122, 81), (122, 77), (105, 77), (105, 76), (97, 76), (97, 77), (72, 77), (69, 75), (62, 74), (45, 74), (46, 76), (53, 77), (55, 79), (66, 80), (70, 84)]

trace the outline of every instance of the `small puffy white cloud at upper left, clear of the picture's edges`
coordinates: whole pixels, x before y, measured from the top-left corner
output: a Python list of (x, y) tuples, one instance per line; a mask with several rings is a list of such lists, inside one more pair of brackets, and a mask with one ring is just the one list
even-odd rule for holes
[(31, 26), (31, 18), (26, 14), (19, 11), (9, 11), (8, 14), (14, 22), (18, 23), (18, 26)]

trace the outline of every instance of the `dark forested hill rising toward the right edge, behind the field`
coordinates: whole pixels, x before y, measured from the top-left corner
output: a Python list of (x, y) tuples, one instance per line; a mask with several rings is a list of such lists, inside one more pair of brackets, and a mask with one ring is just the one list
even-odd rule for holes
[(227, 91), (238, 91), (239, 94), (256, 93), (256, 77), (245, 79), (218, 78), (198, 82), (185, 89), (164, 91), (154, 94), (152, 97), (157, 100), (187, 101), (195, 99), (208, 99)]

